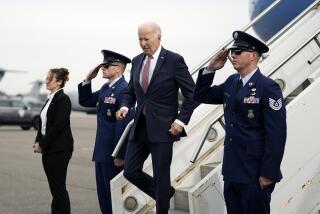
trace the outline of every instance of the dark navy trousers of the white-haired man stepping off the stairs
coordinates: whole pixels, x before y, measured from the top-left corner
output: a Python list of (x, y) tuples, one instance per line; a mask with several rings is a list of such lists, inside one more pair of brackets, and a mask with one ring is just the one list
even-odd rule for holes
[[(140, 116), (135, 140), (127, 147), (124, 177), (156, 201), (157, 214), (167, 214), (170, 198), (174, 194), (171, 186), (170, 165), (173, 142), (150, 142), (146, 133), (146, 121)], [(143, 164), (151, 154), (153, 177), (143, 172)]]

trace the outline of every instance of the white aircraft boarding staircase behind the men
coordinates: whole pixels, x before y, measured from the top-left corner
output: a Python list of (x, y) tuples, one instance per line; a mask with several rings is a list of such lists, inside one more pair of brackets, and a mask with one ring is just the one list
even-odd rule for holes
[[(275, 1), (242, 30), (247, 31), (281, 1)], [(287, 108), (288, 138), (282, 162), (284, 179), (273, 192), (272, 213), (315, 214), (320, 209), (319, 23), (320, 0), (316, 0), (268, 41), (270, 51), (259, 63), (261, 71), (280, 85)], [(231, 43), (232, 39), (221, 48)], [(217, 51), (194, 69), (194, 79), (199, 68), (215, 53)], [(226, 65), (217, 72), (218, 81), (219, 75), (224, 80), (232, 70), (231, 65)], [(224, 130), (221, 106), (202, 104), (194, 111), (187, 126), (188, 137), (174, 144), (171, 178), (176, 193), (170, 201), (169, 213), (226, 213), (221, 175)], [(152, 174), (150, 157), (144, 171)], [(154, 200), (130, 184), (122, 173), (111, 181), (111, 194), (116, 214), (155, 213)]]

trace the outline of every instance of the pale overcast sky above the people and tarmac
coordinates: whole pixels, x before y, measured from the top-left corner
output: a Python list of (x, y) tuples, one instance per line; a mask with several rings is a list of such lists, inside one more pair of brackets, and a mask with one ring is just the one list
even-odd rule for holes
[[(137, 27), (162, 28), (162, 45), (184, 56), (190, 70), (249, 22), (249, 0), (1, 0), (0, 90), (30, 90), (53, 67), (70, 70), (66, 91), (76, 90), (102, 61), (101, 49), (132, 58), (141, 52)], [(94, 82), (98, 88), (101, 76)]]

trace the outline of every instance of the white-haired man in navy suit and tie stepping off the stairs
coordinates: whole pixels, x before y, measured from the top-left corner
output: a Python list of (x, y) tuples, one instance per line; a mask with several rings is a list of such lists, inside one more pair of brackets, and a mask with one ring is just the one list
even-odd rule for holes
[[(132, 60), (131, 79), (117, 117), (126, 116), (128, 108), (137, 109), (129, 136), (124, 176), (156, 200), (158, 214), (167, 213), (174, 194), (170, 180), (173, 142), (185, 136), (183, 129), (194, 110), (194, 81), (184, 59), (160, 45), (161, 29), (145, 23), (138, 29), (143, 53)], [(178, 112), (178, 92), (184, 101)], [(142, 171), (151, 153), (153, 177)]]

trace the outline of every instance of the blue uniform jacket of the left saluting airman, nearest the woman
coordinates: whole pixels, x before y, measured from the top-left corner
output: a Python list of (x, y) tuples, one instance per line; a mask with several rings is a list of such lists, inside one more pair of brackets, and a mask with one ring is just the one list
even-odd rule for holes
[[(95, 162), (110, 162), (111, 154), (115, 149), (126, 125), (133, 118), (134, 111), (122, 121), (117, 121), (116, 112), (119, 110), (123, 91), (128, 83), (121, 77), (112, 87), (104, 84), (100, 90), (92, 92), (91, 84), (78, 85), (79, 103), (85, 107), (97, 107), (97, 133), (92, 160)], [(117, 158), (124, 159), (127, 140), (121, 147)]]

